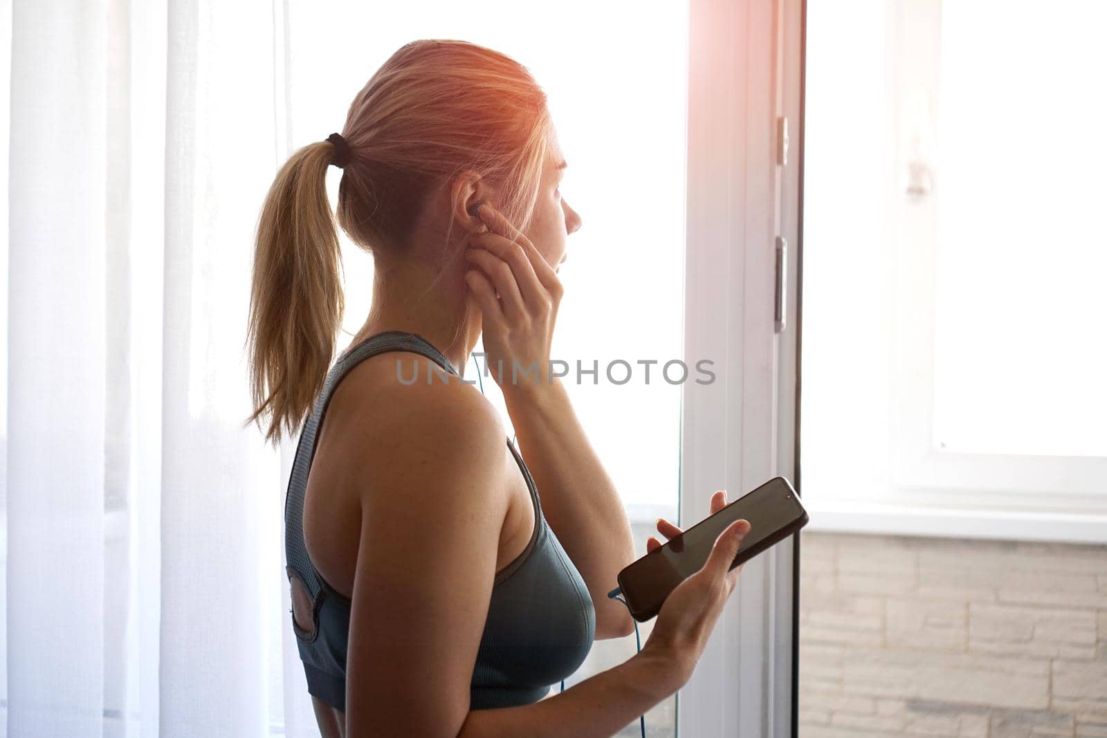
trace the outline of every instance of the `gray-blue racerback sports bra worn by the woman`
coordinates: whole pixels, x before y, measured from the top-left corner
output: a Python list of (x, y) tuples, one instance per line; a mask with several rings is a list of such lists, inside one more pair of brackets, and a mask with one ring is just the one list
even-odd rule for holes
[[(311, 564), (303, 541), (303, 499), (315, 453), (315, 433), (335, 386), (359, 362), (386, 351), (423, 354), (459, 376), (442, 353), (414, 333), (377, 333), (348, 351), (329, 372), (314, 409), (304, 422), (284, 500), (286, 571), (290, 581), (294, 576), (303, 583), (312, 602), (311, 631), (301, 628), (292, 619), (308, 692), (343, 711), (350, 600), (323, 581)], [(527, 465), (510, 440), (507, 446), (530, 490), (535, 532), (523, 553), (494, 580), (469, 686), (470, 709), (541, 699), (551, 685), (577, 671), (596, 636), (596, 611), (588, 589), (546, 523)], [(417, 580), (417, 572), (412, 572), (412, 586), (418, 586)], [(382, 664), (380, 668), (389, 666)]]

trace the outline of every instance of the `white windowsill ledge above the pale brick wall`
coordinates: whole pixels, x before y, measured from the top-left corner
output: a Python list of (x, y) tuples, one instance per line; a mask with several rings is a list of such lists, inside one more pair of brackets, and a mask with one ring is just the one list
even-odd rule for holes
[(806, 531), (1107, 543), (1107, 514), (1003, 512), (872, 502), (806, 505)]

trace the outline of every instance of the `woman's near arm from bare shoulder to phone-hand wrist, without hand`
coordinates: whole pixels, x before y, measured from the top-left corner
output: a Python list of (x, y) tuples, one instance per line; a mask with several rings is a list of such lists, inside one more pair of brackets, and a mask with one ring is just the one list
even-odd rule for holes
[[(365, 448), (346, 652), (346, 736), (611, 736), (686, 676), (651, 651), (538, 703), (469, 709), (508, 508), (505, 432), (472, 387), (394, 388)], [(386, 459), (387, 462), (382, 462)], [(655, 626), (656, 628), (656, 626)], [(668, 666), (673, 664), (673, 666)]]

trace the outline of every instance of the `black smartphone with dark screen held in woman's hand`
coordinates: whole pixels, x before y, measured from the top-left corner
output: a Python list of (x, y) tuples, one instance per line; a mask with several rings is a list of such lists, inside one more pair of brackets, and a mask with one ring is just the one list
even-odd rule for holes
[(792, 482), (774, 477), (671, 538), (619, 572), (619, 586), (631, 616), (644, 622), (656, 615), (669, 593), (703, 568), (718, 534), (735, 520), (743, 519), (749, 521), (749, 532), (731, 569), (806, 526), (807, 510), (799, 502)]

